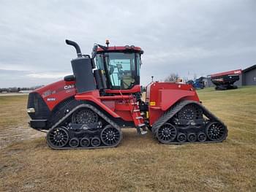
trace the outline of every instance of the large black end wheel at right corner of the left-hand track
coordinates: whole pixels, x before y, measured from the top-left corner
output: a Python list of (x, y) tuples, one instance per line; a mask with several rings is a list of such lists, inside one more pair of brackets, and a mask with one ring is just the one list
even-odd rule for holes
[(100, 138), (105, 145), (114, 146), (121, 141), (121, 133), (117, 128), (108, 125), (103, 128)]

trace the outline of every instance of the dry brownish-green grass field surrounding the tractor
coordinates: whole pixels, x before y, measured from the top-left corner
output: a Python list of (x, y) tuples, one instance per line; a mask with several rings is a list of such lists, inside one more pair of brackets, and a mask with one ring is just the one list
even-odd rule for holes
[(256, 191), (256, 87), (198, 94), (225, 142), (160, 145), (127, 129), (116, 148), (62, 151), (27, 126), (27, 96), (1, 96), (0, 191)]

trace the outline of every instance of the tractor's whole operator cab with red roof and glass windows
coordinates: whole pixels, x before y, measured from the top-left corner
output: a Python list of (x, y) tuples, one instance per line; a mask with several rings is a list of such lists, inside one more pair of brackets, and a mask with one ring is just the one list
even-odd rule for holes
[(106, 79), (106, 85), (111, 90), (129, 90), (140, 85), (140, 55), (143, 50), (134, 45), (94, 46), (92, 58), (97, 69), (101, 70)]

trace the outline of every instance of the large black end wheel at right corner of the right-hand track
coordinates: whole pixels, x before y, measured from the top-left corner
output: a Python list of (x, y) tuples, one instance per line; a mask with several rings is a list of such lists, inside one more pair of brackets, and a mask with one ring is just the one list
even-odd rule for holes
[(211, 122), (206, 125), (206, 134), (211, 141), (222, 141), (227, 135), (227, 128), (219, 122)]

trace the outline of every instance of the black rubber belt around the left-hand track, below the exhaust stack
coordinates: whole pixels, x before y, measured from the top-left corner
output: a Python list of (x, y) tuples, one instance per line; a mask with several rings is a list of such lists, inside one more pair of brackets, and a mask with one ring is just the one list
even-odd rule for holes
[[(80, 104), (77, 107), (75, 107), (74, 109), (72, 109), (67, 115), (65, 115), (63, 118), (61, 118), (57, 123), (54, 124), (54, 126), (52, 128), (56, 128), (57, 126), (59, 126), (61, 123), (64, 122), (64, 120), (66, 120), (67, 118), (69, 118), (70, 115), (72, 115), (73, 112), (75, 112), (76, 110), (80, 109), (80, 108), (89, 108), (91, 110), (93, 110), (94, 112), (97, 113), (97, 115), (99, 115), (99, 117), (101, 117), (102, 119), (104, 119), (105, 121), (107, 121), (111, 126), (113, 126), (114, 128), (118, 129), (118, 131), (120, 132), (120, 140), (118, 141), (118, 143), (116, 145), (103, 145), (103, 146), (99, 146), (99, 147), (52, 147), (50, 145), (48, 145), (50, 148), (54, 149), (54, 150), (67, 150), (67, 149), (100, 149), (100, 148), (112, 148), (112, 147), (116, 147), (117, 145), (119, 145), (119, 143), (121, 142), (121, 140), (123, 139), (123, 134), (121, 131), (121, 128), (115, 123), (113, 122), (113, 120), (110, 120), (110, 118), (108, 118), (103, 112), (99, 111), (96, 107), (92, 106), (91, 104)], [(51, 128), (51, 129), (52, 129)], [(100, 137), (99, 137), (100, 139)], [(47, 140), (47, 138), (46, 138)]]

